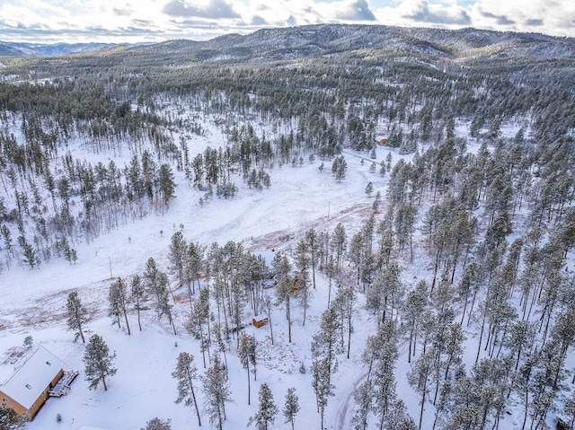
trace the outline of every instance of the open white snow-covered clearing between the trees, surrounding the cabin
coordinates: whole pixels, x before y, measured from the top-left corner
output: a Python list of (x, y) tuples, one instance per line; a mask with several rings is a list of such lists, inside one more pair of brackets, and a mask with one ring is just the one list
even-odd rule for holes
[[(458, 128), (463, 132), (464, 127)], [(512, 135), (510, 128), (507, 130)], [(202, 151), (207, 145), (221, 145), (221, 135), (212, 128), (207, 137), (194, 137), (190, 143), (190, 154)], [(126, 151), (128, 152), (128, 151)], [(376, 162), (385, 159), (389, 150), (377, 148)], [(394, 162), (399, 159), (392, 152)], [(306, 230), (333, 231), (342, 223), (348, 238), (356, 233), (360, 225), (371, 215), (373, 197), (367, 197), (364, 190), (367, 182), (374, 184), (374, 194), (380, 191), (385, 196), (387, 175), (369, 172), (372, 162), (366, 154), (345, 153), (348, 173), (341, 183), (332, 177), (331, 162), (325, 162), (325, 169), (318, 171), (320, 160), (305, 162), (303, 166), (276, 166), (270, 171), (271, 188), (262, 191), (248, 189), (241, 178), (235, 183), (240, 192), (232, 200), (214, 197), (207, 205), (199, 206), (202, 193), (192, 189), (176, 172), (178, 188), (176, 198), (170, 208), (163, 213), (148, 214), (143, 219), (120, 226), (109, 234), (98, 237), (89, 245), (76, 243), (78, 260), (69, 265), (64, 259), (52, 259), (40, 269), (29, 270), (14, 267), (0, 275), (2, 313), (0, 314), (0, 381), (4, 381), (16, 366), (22, 364), (25, 355), (17, 363), (4, 351), (22, 347), (23, 339), (32, 336), (34, 345), (43, 345), (66, 362), (66, 370), (80, 371), (80, 376), (72, 384), (69, 395), (59, 399), (49, 399), (39, 415), (26, 428), (29, 430), (72, 429), (82, 426), (108, 430), (140, 429), (153, 417), (170, 418), (175, 430), (197, 428), (197, 418), (193, 408), (176, 405), (176, 381), (171, 373), (175, 369), (177, 356), (186, 351), (195, 356), (195, 362), (203, 373), (199, 341), (185, 332), (183, 323), (189, 304), (186, 300), (174, 308), (175, 325), (178, 335), (165, 320), (157, 320), (153, 311), (143, 315), (143, 330), (137, 330), (135, 315), (131, 315), (132, 335), (128, 336), (117, 326), (111, 325), (107, 316), (108, 289), (111, 278), (128, 278), (141, 274), (146, 260), (153, 257), (158, 266), (167, 271), (168, 246), (173, 233), (181, 231), (187, 241), (209, 245), (217, 241), (241, 242), (246, 250), (286, 250), (295, 249), (297, 241), (303, 238)], [(410, 156), (407, 156), (410, 158)], [(363, 162), (362, 162), (363, 160)], [(116, 160), (123, 166), (125, 160)], [(385, 198), (383, 202), (385, 210)], [(424, 211), (420, 211), (422, 216)], [(418, 233), (419, 234), (419, 233)], [(415, 241), (420, 236), (415, 237)], [(416, 250), (415, 264), (403, 272), (403, 281), (409, 287), (421, 277), (429, 279), (431, 267), (424, 251)], [(315, 406), (314, 391), (309, 372), (300, 373), (303, 363), (309, 371), (311, 365), (311, 341), (317, 330), (320, 315), (324, 311), (328, 294), (328, 280), (317, 274), (317, 288), (307, 313), (305, 326), (302, 313), (292, 309), (293, 342), (288, 343), (288, 324), (281, 306), (272, 313), (275, 345), (270, 342), (269, 326), (256, 329), (251, 325), (246, 331), (259, 342), (257, 382), (252, 382), (252, 404), (248, 406), (246, 373), (234, 351), (228, 354), (230, 383), (234, 403), (227, 406), (225, 428), (245, 428), (249, 417), (258, 408), (257, 393), (261, 382), (267, 382), (273, 392), (276, 404), (281, 411), (288, 388), (296, 387), (301, 410), (296, 417), (296, 428), (318, 428), (320, 416)], [(175, 279), (173, 288), (177, 287)], [(73, 334), (66, 331), (64, 313), (66, 295), (77, 290), (83, 303), (93, 315), (87, 329), (104, 338), (112, 351), (118, 373), (111, 377), (109, 390), (102, 386), (95, 391), (88, 390), (88, 383), (82, 376), (84, 345), (73, 342)], [(187, 297), (184, 288), (175, 294)], [(273, 294), (268, 290), (266, 294)], [(358, 309), (363, 305), (359, 294)], [(252, 320), (252, 313), (246, 312), (244, 320)], [(367, 312), (357, 312), (354, 332), (351, 338), (351, 357), (340, 355), (340, 366), (333, 383), (335, 396), (329, 399), (326, 408), (325, 425), (329, 429), (351, 428), (353, 415), (353, 391), (365, 378), (367, 370), (360, 360), (364, 340), (375, 333), (376, 320)], [(468, 333), (468, 337), (473, 333)], [(234, 345), (234, 343), (233, 343)], [(398, 397), (403, 399), (412, 417), (419, 417), (419, 398), (406, 382), (409, 371), (406, 345), (400, 349), (396, 370)], [(33, 348), (32, 348), (33, 349)], [(473, 363), (476, 349), (466, 351), (465, 358)], [(464, 360), (465, 361), (465, 360)], [(197, 382), (200, 386), (200, 382)], [(199, 404), (204, 399), (201, 390)], [(431, 428), (433, 414), (426, 408), (422, 428)], [(201, 411), (201, 408), (200, 408)], [(515, 415), (506, 414), (500, 429), (520, 428), (521, 411)], [(62, 421), (57, 422), (57, 414)], [(208, 418), (202, 417), (202, 426), (208, 427)], [(417, 419), (416, 419), (417, 422)], [(84, 428), (84, 427), (83, 427)], [(284, 424), (279, 413), (273, 428), (290, 428)]]

